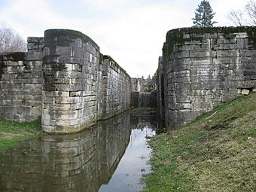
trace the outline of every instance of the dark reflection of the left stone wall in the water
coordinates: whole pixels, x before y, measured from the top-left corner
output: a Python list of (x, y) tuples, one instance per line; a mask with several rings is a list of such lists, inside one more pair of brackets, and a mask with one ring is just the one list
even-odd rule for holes
[(1, 191), (98, 191), (108, 183), (130, 142), (127, 113), (93, 130), (43, 136), (0, 154)]

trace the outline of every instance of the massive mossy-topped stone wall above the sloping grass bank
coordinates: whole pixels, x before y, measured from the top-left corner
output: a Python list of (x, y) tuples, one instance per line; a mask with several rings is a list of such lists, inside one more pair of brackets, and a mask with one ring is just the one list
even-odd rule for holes
[[(167, 33), (158, 69), (158, 108), (167, 127), (256, 87), (256, 27), (184, 28)], [(163, 102), (164, 101), (164, 102)]]

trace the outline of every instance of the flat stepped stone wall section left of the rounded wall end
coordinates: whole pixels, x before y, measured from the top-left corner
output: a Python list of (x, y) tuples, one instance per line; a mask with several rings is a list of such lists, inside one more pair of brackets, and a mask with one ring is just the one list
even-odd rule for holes
[(43, 38), (28, 38), (27, 53), (0, 54), (0, 118), (41, 117)]

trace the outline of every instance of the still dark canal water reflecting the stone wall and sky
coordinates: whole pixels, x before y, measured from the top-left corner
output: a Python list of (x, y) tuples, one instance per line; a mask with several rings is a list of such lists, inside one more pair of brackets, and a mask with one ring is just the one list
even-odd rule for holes
[(23, 142), (0, 154), (0, 191), (139, 191), (155, 122), (123, 113), (83, 133)]

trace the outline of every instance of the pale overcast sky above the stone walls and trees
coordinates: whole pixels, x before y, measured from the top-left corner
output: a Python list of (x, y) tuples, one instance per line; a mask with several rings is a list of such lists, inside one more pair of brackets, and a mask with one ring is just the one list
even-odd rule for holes
[[(46, 29), (74, 29), (90, 36), (131, 77), (157, 70), (166, 32), (192, 26), (201, 0), (0, 0), (0, 22), (23, 38)], [(230, 26), (226, 16), (246, 0), (210, 0), (215, 26)]]

